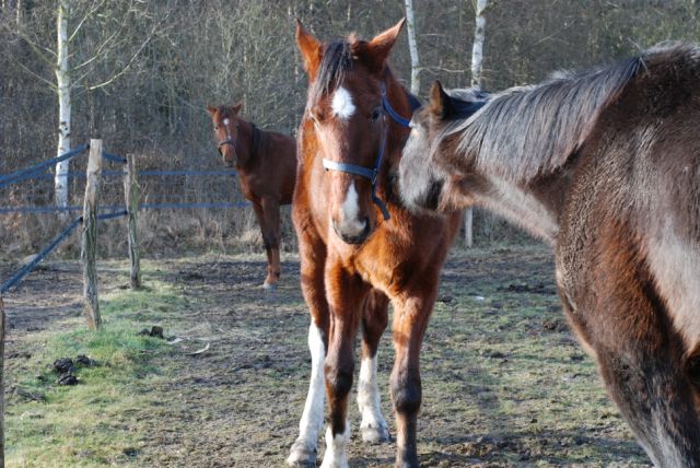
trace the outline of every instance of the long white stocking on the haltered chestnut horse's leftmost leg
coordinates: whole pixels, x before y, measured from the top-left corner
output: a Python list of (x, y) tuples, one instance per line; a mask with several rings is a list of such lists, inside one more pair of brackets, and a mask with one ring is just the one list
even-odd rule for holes
[[(312, 319), (308, 327), (308, 349), (311, 350), (311, 381), (308, 383), (308, 395), (304, 405), (302, 419), (299, 421), (299, 437), (294, 445), (301, 444), (308, 452), (316, 449), (318, 434), (324, 423), (324, 402), (326, 389), (324, 385), (324, 359), (326, 349), (320, 336), (320, 330)], [(292, 451), (287, 461), (295, 466), (296, 457), (300, 454)]]

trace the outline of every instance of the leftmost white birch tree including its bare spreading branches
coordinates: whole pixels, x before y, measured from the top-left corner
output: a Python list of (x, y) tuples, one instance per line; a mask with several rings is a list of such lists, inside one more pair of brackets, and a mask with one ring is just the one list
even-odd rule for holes
[[(56, 0), (52, 14), (56, 17), (56, 48), (46, 42), (38, 28), (19, 27), (14, 32), (36, 57), (56, 74), (56, 81), (44, 77), (38, 63), (31, 67), (25, 60), (15, 63), (26, 73), (47, 84), (58, 97), (58, 145), (57, 155), (70, 151), (71, 145), (71, 102), (73, 94), (84, 94), (95, 90), (106, 90), (117, 79), (131, 72), (137, 57), (162, 25), (168, 20), (167, 12), (151, 20), (144, 11), (147, 5), (130, 0), (109, 2), (108, 0)], [(16, 8), (21, 1), (16, 0)], [(37, 7), (38, 9), (39, 7)], [(74, 19), (74, 22), (73, 22)], [(151, 27), (133, 34), (129, 25), (137, 20), (147, 20)], [(74, 23), (74, 26), (72, 24)], [(72, 26), (72, 28), (71, 28)], [(25, 31), (26, 30), (26, 31)], [(75, 46), (75, 47), (73, 47)], [(75, 65), (72, 62), (75, 61)], [(70, 161), (56, 164), (54, 177), (54, 199), (59, 208), (69, 204), (68, 172)]]

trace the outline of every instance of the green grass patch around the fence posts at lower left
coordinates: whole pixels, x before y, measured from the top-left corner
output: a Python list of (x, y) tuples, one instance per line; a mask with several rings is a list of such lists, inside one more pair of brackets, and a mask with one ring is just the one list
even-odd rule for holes
[[(165, 372), (152, 365), (153, 358), (172, 352), (163, 340), (137, 334), (147, 324), (163, 325), (168, 312), (185, 305), (174, 288), (150, 281), (142, 291), (104, 294), (98, 331), (77, 317), (58, 324), (60, 331), (28, 336), (23, 347), (32, 349), (32, 359), (19, 372), (10, 368), (22, 376), (13, 382), (22, 391), (8, 401), (8, 466), (131, 466), (147, 435), (141, 412), (154, 398), (147, 388)], [(51, 363), (79, 354), (98, 365), (79, 367), (79, 385), (57, 386)]]

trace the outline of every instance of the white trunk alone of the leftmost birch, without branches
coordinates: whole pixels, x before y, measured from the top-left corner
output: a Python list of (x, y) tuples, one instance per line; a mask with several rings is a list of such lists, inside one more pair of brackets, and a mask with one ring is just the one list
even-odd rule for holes
[[(68, 17), (70, 0), (58, 1), (58, 61), (56, 84), (58, 86), (58, 150), (60, 156), (70, 150), (70, 77), (68, 74)], [(56, 164), (55, 198), (59, 208), (68, 207), (68, 173), (70, 160)]]

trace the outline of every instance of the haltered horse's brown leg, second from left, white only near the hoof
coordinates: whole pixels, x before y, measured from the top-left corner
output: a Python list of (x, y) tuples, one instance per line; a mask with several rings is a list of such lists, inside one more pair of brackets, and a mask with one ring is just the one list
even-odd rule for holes
[(322, 468), (346, 468), (346, 448), (350, 441), (348, 395), (354, 371), (353, 343), (362, 317), (369, 285), (342, 270), (339, 264), (326, 271), (326, 290), (330, 305), (328, 351), (324, 365), (329, 425)]

